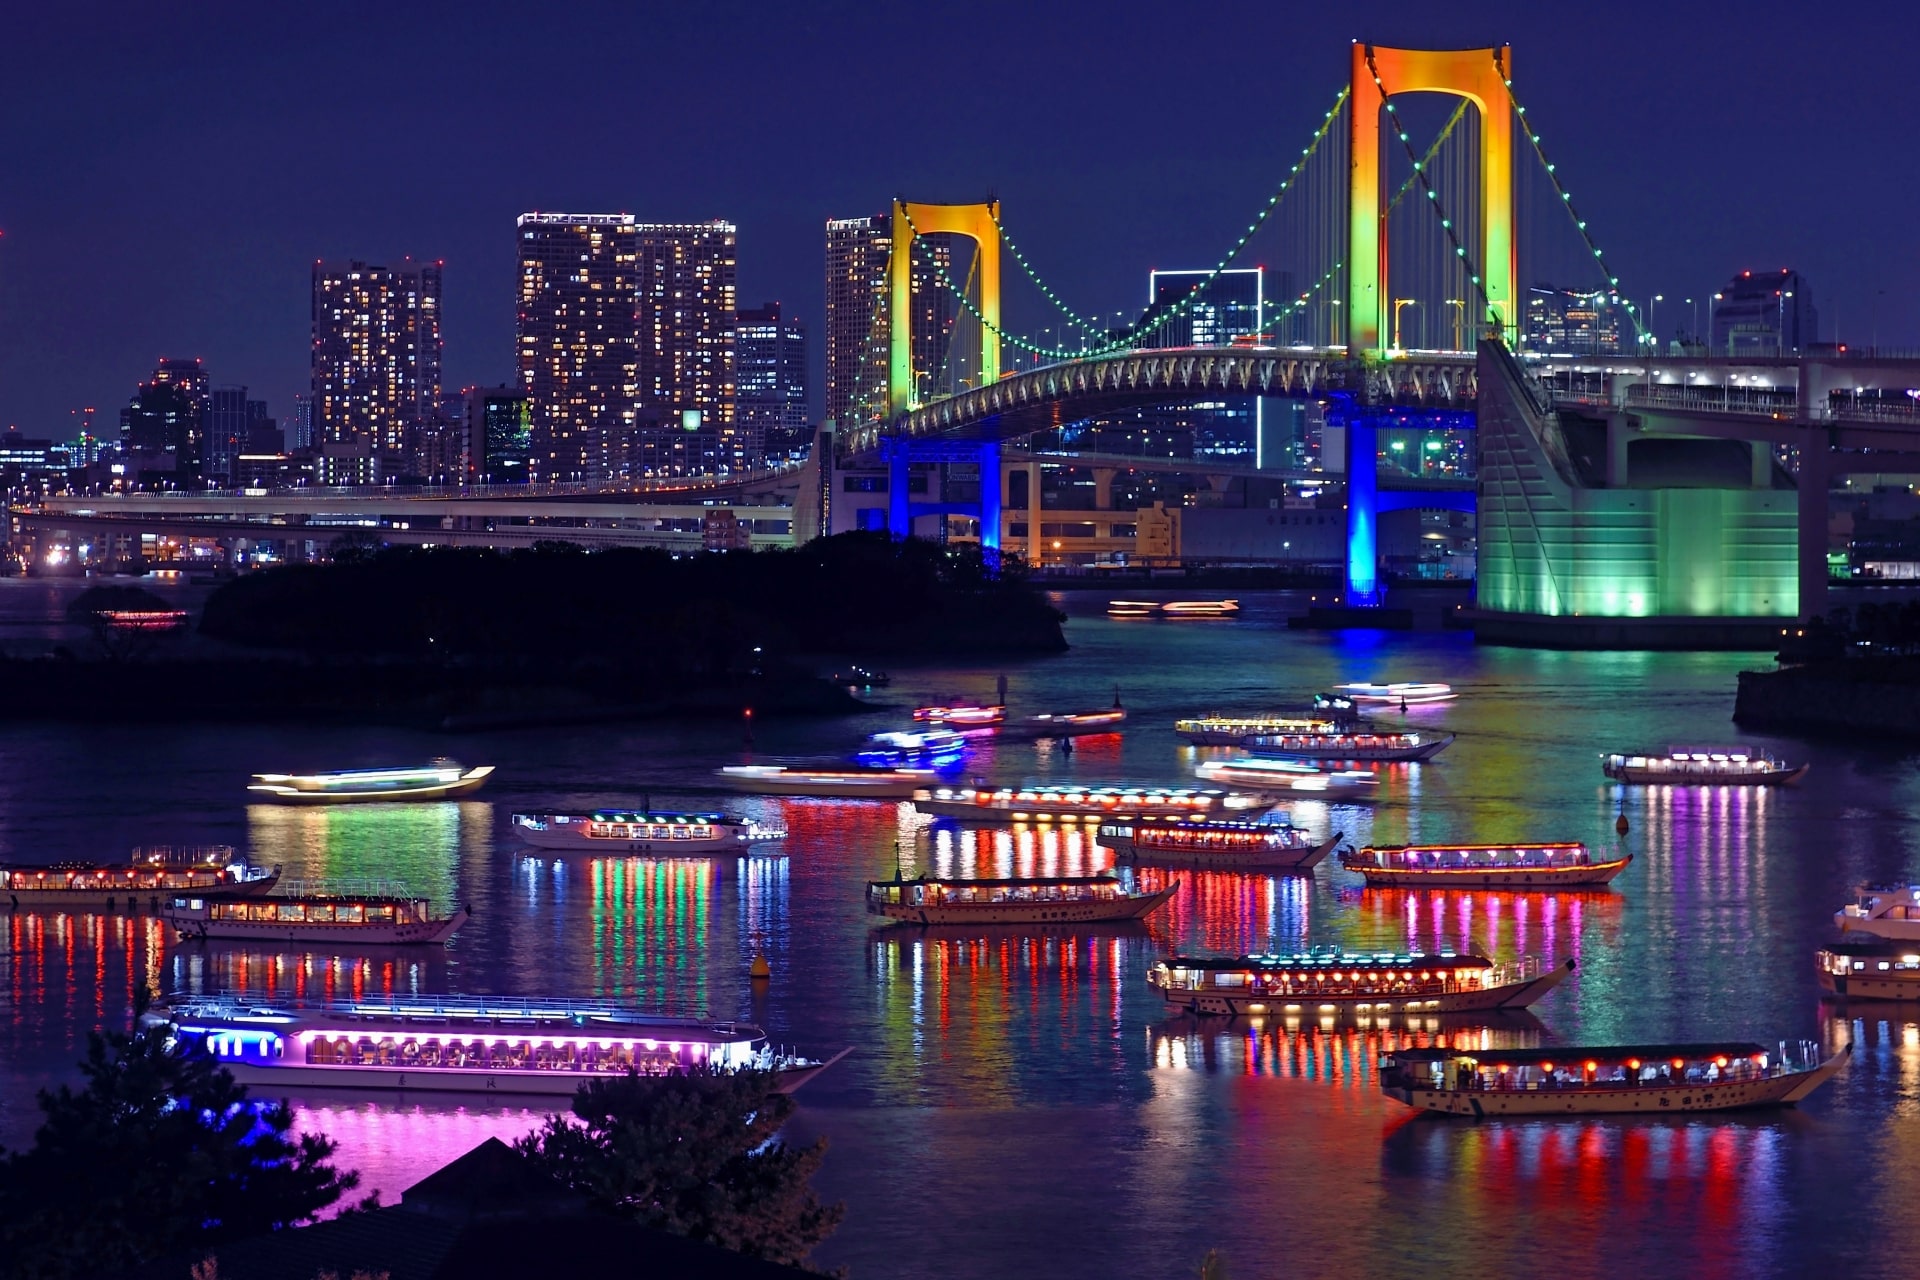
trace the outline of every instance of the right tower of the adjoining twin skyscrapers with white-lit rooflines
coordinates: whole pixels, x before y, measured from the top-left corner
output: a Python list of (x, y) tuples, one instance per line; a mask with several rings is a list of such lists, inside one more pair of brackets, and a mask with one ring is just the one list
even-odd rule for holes
[(639, 405), (628, 470), (751, 464), (733, 416), (733, 223), (641, 223)]

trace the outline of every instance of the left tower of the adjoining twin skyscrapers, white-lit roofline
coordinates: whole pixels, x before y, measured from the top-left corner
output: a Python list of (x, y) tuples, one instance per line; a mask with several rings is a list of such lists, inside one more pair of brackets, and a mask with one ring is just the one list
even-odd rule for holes
[(639, 228), (630, 213), (522, 213), (520, 390), (530, 480), (612, 480), (639, 401)]

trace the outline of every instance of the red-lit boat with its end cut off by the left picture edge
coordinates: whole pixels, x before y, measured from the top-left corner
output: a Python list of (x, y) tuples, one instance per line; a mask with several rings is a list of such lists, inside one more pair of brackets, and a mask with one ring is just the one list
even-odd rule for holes
[(50, 867), (0, 865), (10, 908), (90, 906), (106, 912), (157, 912), (175, 892), (252, 898), (280, 881), (280, 867), (255, 867), (232, 844), (136, 848), (127, 862), (60, 862)]

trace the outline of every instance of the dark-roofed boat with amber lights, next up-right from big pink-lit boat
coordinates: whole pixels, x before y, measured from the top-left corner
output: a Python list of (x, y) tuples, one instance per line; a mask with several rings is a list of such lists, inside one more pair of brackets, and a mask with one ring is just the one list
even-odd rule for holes
[(1012, 881), (868, 881), (868, 915), (912, 925), (1085, 925), (1140, 919), (1179, 889), (1133, 890), (1112, 875)]

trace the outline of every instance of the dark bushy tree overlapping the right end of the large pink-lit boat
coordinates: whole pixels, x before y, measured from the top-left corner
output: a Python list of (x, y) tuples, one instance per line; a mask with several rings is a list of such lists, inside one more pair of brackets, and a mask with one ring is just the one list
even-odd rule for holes
[(778, 1140), (793, 1100), (774, 1086), (766, 1071), (591, 1080), (516, 1150), (641, 1226), (801, 1267), (845, 1207), (808, 1186), (826, 1138)]

